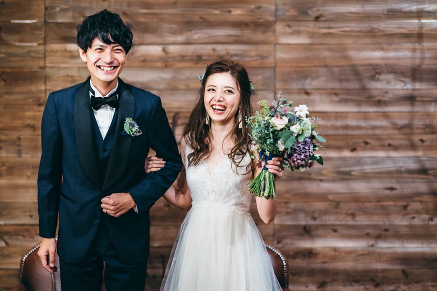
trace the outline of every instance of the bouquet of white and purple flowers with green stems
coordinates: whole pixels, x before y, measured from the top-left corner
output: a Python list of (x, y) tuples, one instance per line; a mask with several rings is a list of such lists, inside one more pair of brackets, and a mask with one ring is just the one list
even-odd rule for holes
[[(258, 167), (273, 157), (283, 157), (284, 166), (292, 171), (312, 168), (314, 162), (323, 165), (322, 157), (314, 152), (322, 147), (317, 141), (326, 140), (315, 131), (319, 119), (309, 117), (306, 105), (292, 109), (292, 103), (279, 95), (270, 107), (266, 100), (259, 101), (258, 106), (260, 111), (246, 119), (252, 142), (259, 152)], [(274, 175), (266, 166), (250, 182), (249, 192), (257, 197), (276, 199)]]

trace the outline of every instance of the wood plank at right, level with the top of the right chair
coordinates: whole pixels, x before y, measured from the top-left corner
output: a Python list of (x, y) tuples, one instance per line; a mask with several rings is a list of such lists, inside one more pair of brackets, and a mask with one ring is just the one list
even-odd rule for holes
[[(288, 260), (304, 260), (302, 250), (312, 248), (338, 248), (357, 253), (384, 252), (390, 249), (416, 249), (425, 252), (437, 249), (435, 225), (398, 224), (276, 224), (274, 245), (291, 253)], [(298, 250), (298, 251), (297, 251)], [(295, 251), (299, 252), (296, 256)], [(297, 259), (298, 258), (298, 259)], [(311, 257), (306, 261), (311, 261)], [(329, 259), (335, 262), (336, 259)]]

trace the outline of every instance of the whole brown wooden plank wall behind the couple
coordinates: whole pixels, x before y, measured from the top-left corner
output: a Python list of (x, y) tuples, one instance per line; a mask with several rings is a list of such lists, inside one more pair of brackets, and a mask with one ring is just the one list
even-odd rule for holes
[[(162, 97), (178, 141), (197, 75), (224, 57), (247, 66), (254, 102), (284, 92), (322, 118), (325, 165), (277, 183), (274, 223), (254, 213), (288, 258), (292, 290), (437, 290), (437, 3), (427, 0), (1, 1), (0, 290), (40, 240), (46, 97), (86, 78), (76, 27), (104, 8), (134, 32), (121, 77)], [(149, 291), (184, 216), (163, 200), (151, 211)]]

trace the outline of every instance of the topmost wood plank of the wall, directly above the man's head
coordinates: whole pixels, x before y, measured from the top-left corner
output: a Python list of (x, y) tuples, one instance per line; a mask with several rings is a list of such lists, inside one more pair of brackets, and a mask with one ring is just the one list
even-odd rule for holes
[(274, 21), (273, 0), (130, 0), (129, 5), (118, 0), (87, 2), (78, 0), (75, 5), (65, 1), (46, 0), (46, 19), (49, 22), (73, 22), (97, 13), (101, 9), (120, 14), (127, 23), (134, 21), (163, 23), (169, 21)]

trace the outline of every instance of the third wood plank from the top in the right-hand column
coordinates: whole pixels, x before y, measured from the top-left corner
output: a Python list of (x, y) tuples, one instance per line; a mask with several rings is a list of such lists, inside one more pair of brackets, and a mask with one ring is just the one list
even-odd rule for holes
[(437, 65), (437, 43), (291, 44), (276, 46), (278, 67)]

